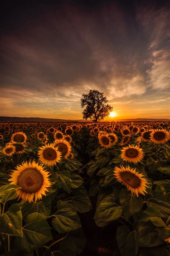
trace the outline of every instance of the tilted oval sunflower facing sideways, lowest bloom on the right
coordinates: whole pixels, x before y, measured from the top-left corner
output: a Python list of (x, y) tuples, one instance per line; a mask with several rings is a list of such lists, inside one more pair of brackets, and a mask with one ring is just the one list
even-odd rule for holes
[(119, 182), (127, 187), (132, 194), (138, 197), (138, 193), (145, 195), (148, 180), (142, 175), (136, 172), (136, 169), (130, 169), (130, 167), (115, 167), (114, 175)]

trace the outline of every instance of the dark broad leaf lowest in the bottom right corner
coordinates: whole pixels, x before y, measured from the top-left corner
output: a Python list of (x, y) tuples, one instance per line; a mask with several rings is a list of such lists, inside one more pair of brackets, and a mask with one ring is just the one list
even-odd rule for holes
[(159, 233), (148, 223), (141, 222), (138, 228), (139, 247), (153, 247), (162, 244)]

